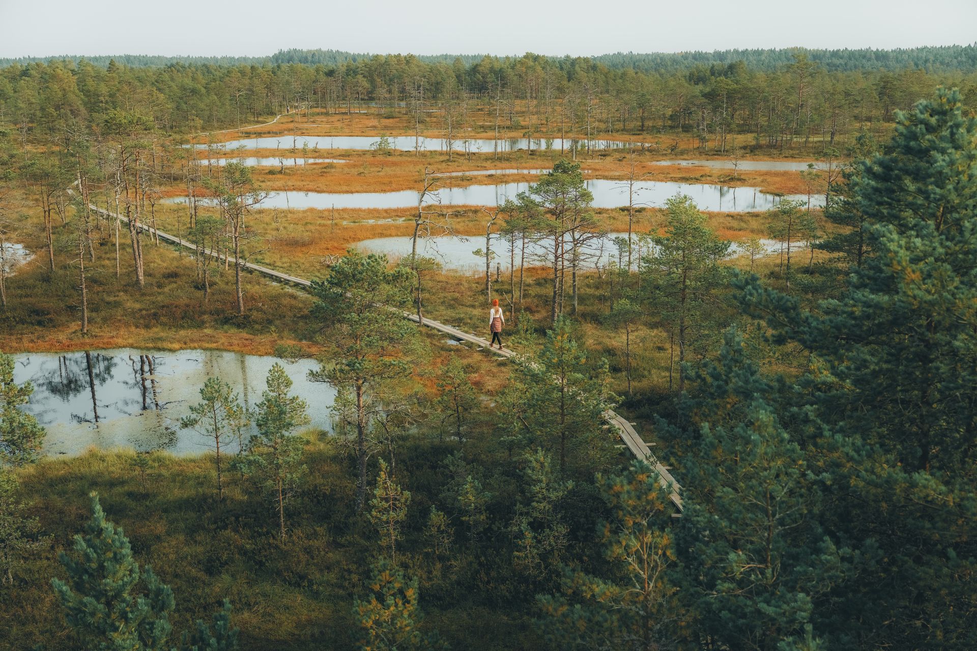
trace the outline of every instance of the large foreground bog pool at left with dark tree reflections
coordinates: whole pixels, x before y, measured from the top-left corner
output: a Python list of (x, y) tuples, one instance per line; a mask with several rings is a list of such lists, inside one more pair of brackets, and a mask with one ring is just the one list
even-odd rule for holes
[[(25, 409), (47, 428), (47, 455), (77, 455), (93, 445), (178, 455), (205, 452), (210, 449), (208, 439), (180, 427), (189, 407), (200, 401), (204, 381), (222, 378), (234, 387), (241, 405), (253, 409), (261, 400), (269, 369), (280, 362), (227, 350), (132, 348), (14, 357), (14, 380), (34, 385)], [(309, 404), (312, 427), (331, 430), (329, 406), (335, 390), (306, 378), (316, 362), (281, 364), (295, 383), (292, 393)], [(213, 439), (209, 443), (213, 445)], [(236, 449), (236, 441), (228, 447), (229, 452)]]

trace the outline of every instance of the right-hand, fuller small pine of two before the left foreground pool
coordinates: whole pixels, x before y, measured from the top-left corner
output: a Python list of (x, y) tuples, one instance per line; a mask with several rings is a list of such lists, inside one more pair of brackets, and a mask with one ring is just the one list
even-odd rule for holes
[(278, 363), (268, 371), (267, 389), (255, 405), (258, 433), (248, 443), (244, 468), (258, 477), (275, 502), (278, 535), (285, 537), (285, 502), (298, 489), (307, 468), (302, 464), (305, 439), (292, 433), (309, 424), (306, 401), (289, 394), (292, 381)]

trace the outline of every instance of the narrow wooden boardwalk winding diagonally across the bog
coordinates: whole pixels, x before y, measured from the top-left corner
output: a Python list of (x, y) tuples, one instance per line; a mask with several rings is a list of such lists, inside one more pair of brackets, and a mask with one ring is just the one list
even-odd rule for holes
[[(92, 210), (100, 213), (101, 215), (106, 216), (107, 218), (115, 219), (115, 215), (113, 213), (108, 212), (107, 210), (99, 208), (98, 206), (95, 205), (90, 205), (89, 207)], [(121, 219), (123, 222), (125, 221), (124, 217), (120, 217), (119, 219)], [(195, 246), (193, 246), (190, 242), (180, 237), (170, 235), (169, 233), (164, 233), (161, 230), (153, 230), (146, 224), (140, 224), (139, 227), (145, 232), (155, 233), (155, 235), (158, 236), (159, 239), (169, 242), (170, 244), (191, 249), (191, 251), (194, 252), (196, 251)], [(221, 261), (223, 261), (226, 258), (226, 256), (224, 256), (223, 254), (218, 254), (218, 253), (215, 253), (214, 256)], [(233, 262), (233, 259), (230, 262)], [(269, 268), (267, 266), (262, 266), (260, 264), (242, 263), (241, 267), (245, 269), (249, 269), (255, 273), (260, 273), (278, 282), (298, 285), (299, 287), (312, 286), (312, 282), (306, 280), (305, 278), (291, 276), (288, 275), (287, 273), (282, 273), (281, 271), (276, 271), (275, 269)], [(404, 316), (404, 318), (410, 319), (414, 323), (417, 323), (418, 321), (417, 314), (411, 312), (401, 312), (401, 314)], [(441, 323), (439, 321), (435, 321), (433, 319), (429, 319), (425, 317), (424, 325), (428, 328), (432, 328), (441, 333), (444, 333), (452, 339), (456, 339), (462, 342), (468, 342), (469, 344), (473, 344), (475, 346), (481, 346), (487, 350), (490, 350), (492, 353), (496, 355), (501, 355), (502, 357), (506, 357), (510, 359), (516, 356), (516, 353), (508, 348), (503, 348), (502, 350), (499, 350), (498, 348), (492, 348), (489, 345), (488, 340), (473, 335), (471, 333), (466, 333), (453, 326), (446, 325), (445, 323)], [(664, 466), (661, 465), (660, 462), (658, 462), (658, 458), (655, 456), (654, 453), (652, 453), (651, 448), (648, 447), (648, 444), (645, 443), (645, 441), (641, 438), (638, 432), (634, 429), (634, 427), (630, 423), (627, 422), (627, 420), (625, 420), (619, 414), (611, 410), (608, 410), (604, 413), (604, 418), (607, 420), (608, 424), (611, 427), (614, 427), (616, 429), (617, 435), (620, 436), (621, 440), (624, 442), (624, 445), (627, 447), (628, 450), (630, 450), (631, 454), (633, 454), (638, 459), (643, 459), (644, 461), (648, 462), (648, 464), (652, 468), (655, 468), (656, 472), (658, 472), (658, 483), (662, 486), (662, 488), (668, 491), (669, 499), (672, 501), (675, 507), (679, 509), (679, 511), (681, 511), (682, 510), (682, 495), (681, 495), (682, 487), (678, 484), (677, 481), (675, 481), (674, 477), (672, 477), (671, 473), (668, 471), (668, 468), (665, 468)]]

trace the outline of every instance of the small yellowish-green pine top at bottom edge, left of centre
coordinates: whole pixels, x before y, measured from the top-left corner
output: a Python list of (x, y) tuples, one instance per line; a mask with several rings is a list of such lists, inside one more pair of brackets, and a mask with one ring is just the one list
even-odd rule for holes
[(353, 616), (362, 629), (361, 651), (413, 651), (444, 648), (437, 632), (420, 631), (417, 579), (387, 560), (373, 566), (371, 593), (353, 603)]

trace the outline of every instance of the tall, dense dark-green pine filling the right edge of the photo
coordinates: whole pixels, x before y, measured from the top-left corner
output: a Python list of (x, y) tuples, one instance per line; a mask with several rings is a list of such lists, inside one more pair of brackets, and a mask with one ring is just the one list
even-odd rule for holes
[(841, 297), (808, 312), (743, 284), (777, 341), (810, 351), (795, 399), (824, 448), (826, 527), (855, 549), (825, 614), (850, 646), (977, 644), (975, 178), (977, 120), (941, 89), (852, 179), (871, 255)]

